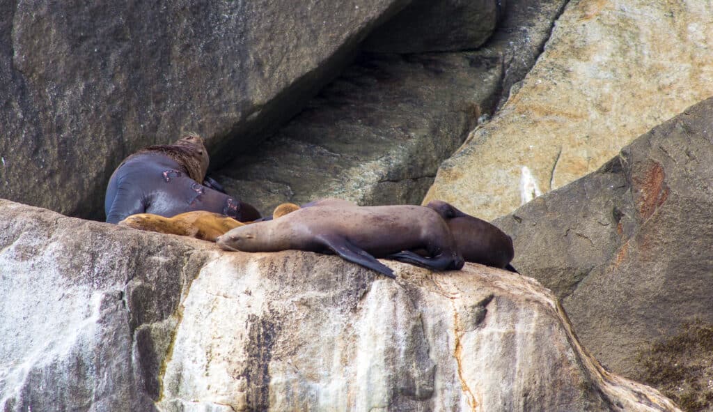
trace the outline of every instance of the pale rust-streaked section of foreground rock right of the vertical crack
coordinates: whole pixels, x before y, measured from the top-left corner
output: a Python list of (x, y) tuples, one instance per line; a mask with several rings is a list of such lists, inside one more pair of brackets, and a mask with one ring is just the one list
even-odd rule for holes
[(338, 257), (252, 256), (193, 281), (161, 409), (677, 410), (603, 371), (530, 278), (386, 261), (392, 281)]

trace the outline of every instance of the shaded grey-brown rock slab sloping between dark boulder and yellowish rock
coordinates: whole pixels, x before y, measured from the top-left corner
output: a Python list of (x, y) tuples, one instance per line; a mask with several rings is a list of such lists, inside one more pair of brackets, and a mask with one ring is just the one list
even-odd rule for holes
[(337, 196), (418, 204), (434, 172), (534, 64), (564, 0), (508, 1), (476, 52), (361, 56), (287, 126), (218, 171), (230, 193), (263, 213), (285, 201)]

